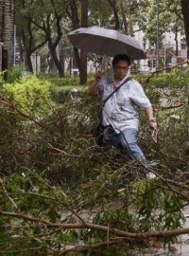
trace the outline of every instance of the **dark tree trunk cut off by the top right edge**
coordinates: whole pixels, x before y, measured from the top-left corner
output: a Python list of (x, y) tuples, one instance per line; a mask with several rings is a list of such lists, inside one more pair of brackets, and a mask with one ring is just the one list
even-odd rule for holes
[(187, 60), (189, 60), (189, 1), (180, 0), (181, 2), (181, 12), (183, 15), (183, 23), (186, 35), (186, 45), (187, 45)]

